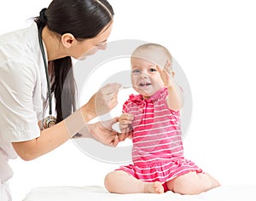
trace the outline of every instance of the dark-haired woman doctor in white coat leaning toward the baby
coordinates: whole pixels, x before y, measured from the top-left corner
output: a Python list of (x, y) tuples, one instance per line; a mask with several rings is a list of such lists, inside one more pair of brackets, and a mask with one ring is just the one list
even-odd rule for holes
[(11, 200), (8, 160), (17, 154), (24, 160), (38, 158), (78, 133), (109, 146), (118, 144), (112, 129), (117, 118), (104, 125), (87, 123), (116, 106), (120, 85), (107, 84), (77, 109), (71, 60), (105, 49), (112, 26), (107, 0), (53, 0), (32, 26), (0, 36), (1, 201)]

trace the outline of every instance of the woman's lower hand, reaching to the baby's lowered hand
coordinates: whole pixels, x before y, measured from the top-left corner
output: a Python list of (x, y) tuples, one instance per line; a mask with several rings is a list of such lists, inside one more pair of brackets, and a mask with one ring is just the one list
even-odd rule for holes
[(107, 121), (88, 124), (90, 134), (96, 139), (108, 146), (117, 146), (119, 143), (119, 133), (112, 128), (119, 118), (112, 118)]

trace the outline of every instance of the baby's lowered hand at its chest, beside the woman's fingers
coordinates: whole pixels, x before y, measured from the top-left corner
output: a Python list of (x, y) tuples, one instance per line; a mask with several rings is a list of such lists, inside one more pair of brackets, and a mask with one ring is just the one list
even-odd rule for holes
[(127, 137), (131, 135), (131, 122), (134, 117), (132, 114), (124, 113), (119, 117), (119, 129), (121, 134), (119, 135), (119, 141), (125, 141)]

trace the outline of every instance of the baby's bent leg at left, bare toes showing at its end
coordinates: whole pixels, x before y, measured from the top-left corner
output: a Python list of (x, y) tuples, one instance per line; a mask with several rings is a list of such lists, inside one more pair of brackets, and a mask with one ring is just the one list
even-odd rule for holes
[(114, 193), (163, 193), (164, 187), (159, 181), (144, 182), (137, 180), (123, 170), (115, 170), (105, 177), (105, 187)]

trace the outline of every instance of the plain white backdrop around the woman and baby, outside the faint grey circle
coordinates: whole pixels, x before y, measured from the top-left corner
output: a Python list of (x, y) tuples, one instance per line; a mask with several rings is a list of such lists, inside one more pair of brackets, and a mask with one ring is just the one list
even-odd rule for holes
[[(0, 34), (26, 26), (49, 0), (1, 3)], [(109, 41), (139, 39), (168, 48), (187, 75), (193, 117), (185, 155), (223, 185), (255, 185), (255, 54), (253, 0), (109, 0)], [(63, 19), (65, 23), (65, 19)], [(72, 141), (30, 162), (10, 161), (14, 201), (32, 187), (103, 185), (119, 164), (89, 158)]]

